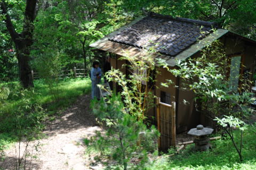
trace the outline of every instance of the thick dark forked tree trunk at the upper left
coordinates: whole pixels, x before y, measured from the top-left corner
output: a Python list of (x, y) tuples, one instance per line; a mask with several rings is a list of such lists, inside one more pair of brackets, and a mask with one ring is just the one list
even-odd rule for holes
[(23, 12), (23, 27), (21, 33), (17, 33), (13, 25), (13, 21), (8, 12), (7, 6), (12, 2), (1, 1), (1, 11), (2, 17), (5, 22), (6, 28), (12, 38), (15, 48), (17, 50), (17, 58), (19, 62), (19, 74), (20, 81), (23, 87), (30, 87), (33, 85), (33, 80), (31, 78), (31, 68), (29, 66), (29, 54), (30, 46), (33, 44), (33, 32), (34, 32), (34, 20), (36, 17), (36, 0), (26, 1), (26, 8)]

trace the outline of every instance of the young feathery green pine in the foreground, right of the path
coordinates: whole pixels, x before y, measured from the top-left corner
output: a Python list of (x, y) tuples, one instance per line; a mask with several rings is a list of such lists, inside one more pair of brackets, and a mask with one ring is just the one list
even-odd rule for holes
[(149, 161), (148, 152), (157, 149), (156, 128), (147, 128), (141, 119), (127, 114), (120, 96), (113, 95), (107, 103), (94, 101), (92, 107), (100, 122), (107, 126), (106, 133), (98, 132), (90, 141), (85, 140), (89, 147), (98, 150), (97, 158), (107, 159), (108, 167), (143, 169)]

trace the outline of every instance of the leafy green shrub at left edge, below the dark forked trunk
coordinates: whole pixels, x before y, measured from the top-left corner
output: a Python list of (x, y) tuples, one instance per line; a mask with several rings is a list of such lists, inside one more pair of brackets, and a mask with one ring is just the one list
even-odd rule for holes
[[(5, 87), (6, 88), (6, 87)], [(44, 120), (44, 110), (41, 105), (35, 101), (34, 91), (23, 90), (20, 86), (12, 88), (12, 92), (9, 94), (7, 101), (5, 100), (0, 109), (0, 132), (12, 133), (13, 130), (22, 127), (29, 129), (37, 127), (42, 129), (41, 124)], [(15, 103), (9, 103), (10, 101), (17, 101)]]

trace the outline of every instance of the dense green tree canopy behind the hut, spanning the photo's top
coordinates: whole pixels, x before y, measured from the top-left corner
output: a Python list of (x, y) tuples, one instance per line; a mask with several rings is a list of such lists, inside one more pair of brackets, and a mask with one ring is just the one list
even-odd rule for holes
[[(13, 38), (11, 38), (12, 34), (9, 33), (12, 33), (10, 30), (15, 30), (17, 32), (16, 35), (26, 33), (24, 28), (28, 25), (23, 23), (27, 23), (24, 21), (28, 19), (29, 13), (26, 13), (26, 10), (29, 9), (35, 10), (35, 13), (33, 13), (35, 18), (31, 15), (33, 20), (30, 20), (34, 21), (33, 25), (31, 25), (34, 31), (33, 37), (31, 35), (27, 36), (27, 38), (33, 38), (33, 42), (28, 43), (26, 41), (28, 43), (26, 46), (29, 47), (25, 50), (26, 53), (29, 52), (29, 58), (26, 59), (26, 62), (30, 64), (27, 65), (25, 62), (23, 66), (26, 69), (20, 68), (20, 73), (24, 70), (23, 77), (29, 76), (29, 67), (37, 71), (40, 70), (38, 66), (42, 61), (54, 60), (49, 59), (52, 55), (56, 56), (56, 58), (58, 56), (57, 60), (61, 67), (65, 69), (71, 69), (74, 66), (88, 69), (94, 55), (99, 55), (90, 51), (89, 44), (135, 18), (147, 15), (149, 12), (171, 15), (172, 17), (214, 21), (218, 23), (219, 28), (228, 29), (252, 39), (256, 38), (256, 2), (254, 0), (38, 0), (35, 1), (37, 2), (36, 5), (28, 2), (30, 1), (5, 0), (1, 3), (0, 78), (2, 80), (18, 78), (19, 67), (15, 55), (17, 56), (20, 50), (25, 49), (18, 48), (19, 46), (15, 45)], [(6, 14), (9, 14), (10, 19)], [(9, 24), (6, 27), (6, 19), (8, 19), (8, 23), (12, 23), (13, 27), (7, 29), (11, 25)], [(172, 24), (176, 25), (178, 23), (178, 21), (174, 21)], [(182, 31), (188, 30), (188, 27), (192, 28), (191, 26), (182, 27), (184, 27)], [(191, 39), (195, 39), (197, 34), (190, 36)], [(179, 53), (180, 48), (185, 48), (187, 42), (184, 43), (184, 46), (175, 49), (173, 48), (175, 43), (173, 45), (170, 44), (165, 46), (170, 50), (159, 50), (173, 55), (174, 53)], [(23, 82), (28, 80), (29, 78), (25, 78)]]

